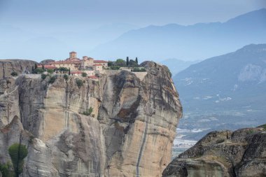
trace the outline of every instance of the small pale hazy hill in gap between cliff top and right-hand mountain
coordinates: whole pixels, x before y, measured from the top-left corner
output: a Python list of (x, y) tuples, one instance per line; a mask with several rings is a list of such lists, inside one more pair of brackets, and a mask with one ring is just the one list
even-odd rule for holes
[(165, 59), (161, 64), (164, 64), (167, 66), (170, 71), (172, 72), (172, 76), (176, 75), (176, 73), (179, 73), (180, 71), (183, 71), (184, 69), (188, 68), (191, 64), (196, 64), (200, 62), (199, 60), (197, 61), (183, 61), (181, 59)]

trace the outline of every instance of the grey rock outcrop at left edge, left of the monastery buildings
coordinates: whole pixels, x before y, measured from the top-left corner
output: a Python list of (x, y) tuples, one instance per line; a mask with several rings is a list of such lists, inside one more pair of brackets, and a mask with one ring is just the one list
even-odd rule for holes
[(17, 73), (31, 71), (31, 66), (34, 64), (36, 62), (26, 59), (0, 59), (0, 80), (10, 77), (10, 73), (13, 71)]

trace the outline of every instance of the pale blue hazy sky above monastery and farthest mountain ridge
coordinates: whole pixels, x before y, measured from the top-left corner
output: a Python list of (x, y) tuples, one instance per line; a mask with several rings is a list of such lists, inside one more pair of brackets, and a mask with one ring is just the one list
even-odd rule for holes
[(260, 8), (266, 0), (0, 0), (0, 58), (90, 56), (132, 29), (225, 22)]

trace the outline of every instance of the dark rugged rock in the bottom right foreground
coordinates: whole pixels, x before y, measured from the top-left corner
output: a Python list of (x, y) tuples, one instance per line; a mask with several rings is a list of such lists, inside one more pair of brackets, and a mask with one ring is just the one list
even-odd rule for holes
[(211, 132), (176, 157), (162, 176), (266, 176), (266, 125)]

